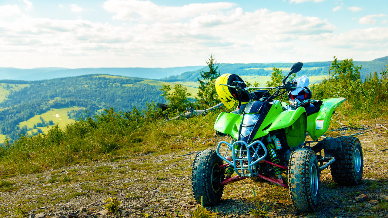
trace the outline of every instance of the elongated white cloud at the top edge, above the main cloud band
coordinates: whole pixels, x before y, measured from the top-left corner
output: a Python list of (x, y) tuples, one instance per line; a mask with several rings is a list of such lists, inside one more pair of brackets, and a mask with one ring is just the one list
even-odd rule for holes
[(171, 21), (192, 17), (198, 14), (230, 9), (234, 3), (194, 3), (182, 7), (158, 6), (150, 1), (138, 0), (108, 0), (104, 9), (116, 13), (113, 19), (118, 20), (145, 20), (145, 21)]

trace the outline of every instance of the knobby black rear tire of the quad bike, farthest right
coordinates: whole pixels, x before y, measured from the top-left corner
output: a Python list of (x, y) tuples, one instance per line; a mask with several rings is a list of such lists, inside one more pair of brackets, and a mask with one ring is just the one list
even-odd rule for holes
[(330, 165), (331, 176), (339, 185), (357, 185), (361, 182), (364, 159), (360, 140), (352, 136), (338, 137), (342, 151), (340, 158)]

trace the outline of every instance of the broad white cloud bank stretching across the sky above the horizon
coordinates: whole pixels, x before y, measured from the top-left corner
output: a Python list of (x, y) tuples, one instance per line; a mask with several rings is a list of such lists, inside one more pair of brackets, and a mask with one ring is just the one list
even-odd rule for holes
[[(165, 7), (135, 0), (107, 2), (111, 5), (104, 8), (112, 16), (132, 21), (114, 26), (30, 17), (20, 10), (18, 16), (0, 19), (0, 66), (189, 66), (203, 64), (210, 53), (224, 63), (325, 61), (334, 55), (383, 57), (388, 47), (388, 28), (336, 34), (336, 27), (326, 19), (301, 14), (267, 9), (247, 12), (230, 3)], [(113, 3), (151, 7), (131, 9)], [(184, 13), (173, 13), (176, 9)]]

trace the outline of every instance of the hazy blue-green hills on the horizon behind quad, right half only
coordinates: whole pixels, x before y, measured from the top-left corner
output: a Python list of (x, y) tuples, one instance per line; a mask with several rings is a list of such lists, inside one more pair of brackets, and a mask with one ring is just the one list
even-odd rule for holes
[[(381, 72), (385, 68), (388, 56), (374, 59), (373, 61), (353, 61), (356, 66), (361, 66), (360, 76), (365, 80), (366, 76), (376, 72)], [(272, 67), (280, 68), (284, 72), (289, 71), (293, 63), (269, 63), (269, 64), (218, 64), (218, 71), (221, 74), (232, 73), (238, 75), (256, 75), (256, 76), (270, 76), (272, 74)], [(319, 76), (329, 73), (331, 61), (325, 62), (305, 62), (303, 68), (296, 76)], [(203, 67), (191, 72), (185, 72), (177, 76), (165, 77), (163, 81), (197, 81), (200, 77), (201, 71), (208, 71), (208, 67)]]

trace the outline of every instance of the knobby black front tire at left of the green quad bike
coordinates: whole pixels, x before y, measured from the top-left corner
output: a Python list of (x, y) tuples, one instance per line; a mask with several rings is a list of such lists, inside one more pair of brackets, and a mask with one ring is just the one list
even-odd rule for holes
[(224, 174), (219, 168), (223, 161), (213, 150), (198, 152), (192, 166), (191, 185), (194, 198), (201, 203), (203, 196), (204, 206), (214, 206), (220, 202), (224, 180)]

